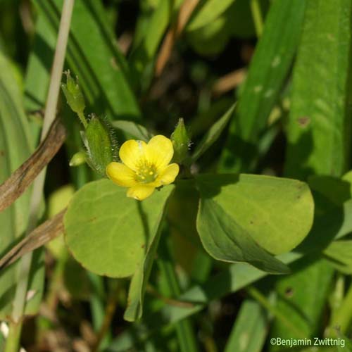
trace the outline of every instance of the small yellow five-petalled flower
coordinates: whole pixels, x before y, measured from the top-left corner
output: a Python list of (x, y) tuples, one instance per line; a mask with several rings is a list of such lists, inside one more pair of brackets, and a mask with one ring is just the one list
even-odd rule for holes
[(175, 181), (180, 168), (170, 164), (174, 153), (170, 139), (158, 135), (148, 144), (130, 139), (122, 144), (119, 155), (122, 163), (110, 163), (108, 177), (122, 187), (129, 187), (127, 196), (143, 201), (156, 187)]

